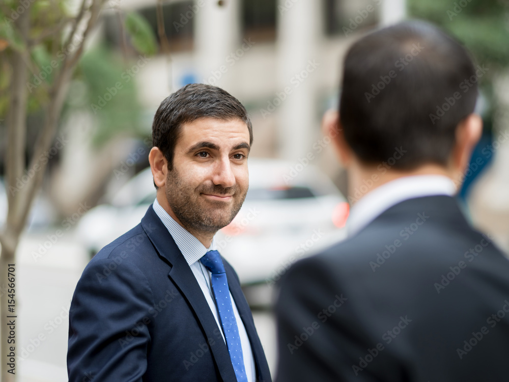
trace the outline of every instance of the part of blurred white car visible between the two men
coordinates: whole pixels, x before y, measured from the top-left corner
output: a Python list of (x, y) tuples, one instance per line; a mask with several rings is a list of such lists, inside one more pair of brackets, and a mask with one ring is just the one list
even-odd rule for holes
[(295, 168), (288, 161), (250, 160), (246, 200), (216, 235), (219, 252), (244, 284), (272, 285), (299, 258), (346, 236), (344, 196), (318, 168), (292, 173)]

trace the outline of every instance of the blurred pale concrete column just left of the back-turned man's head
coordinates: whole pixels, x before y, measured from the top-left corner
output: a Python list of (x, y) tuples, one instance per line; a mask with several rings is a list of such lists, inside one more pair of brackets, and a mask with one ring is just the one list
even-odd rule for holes
[(317, 49), (321, 8), (308, 0), (279, 0), (277, 4), (277, 94), (273, 94), (273, 103), (278, 104), (278, 151), (282, 158), (297, 160), (312, 150), (320, 132), (315, 95), (322, 69)]

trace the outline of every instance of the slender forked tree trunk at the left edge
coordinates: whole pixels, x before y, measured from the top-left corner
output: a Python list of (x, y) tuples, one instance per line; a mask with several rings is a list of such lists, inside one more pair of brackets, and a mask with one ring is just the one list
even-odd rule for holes
[[(17, 5), (26, 10), (26, 5), (24, 3), (27, 2), (19, 0)], [(9, 304), (11, 303), (10, 300), (13, 299), (12, 296), (9, 296), (9, 294), (13, 294), (9, 293), (9, 289), (14, 289), (16, 291), (17, 285), (15, 279), (16, 272), (12, 272), (12, 268), (14, 267), (15, 269), (15, 265), (11, 266), (10, 264), (15, 264), (15, 253), (19, 238), (25, 226), (32, 202), (43, 180), (47, 162), (41, 161), (40, 158), (43, 157), (43, 153), (49, 149), (54, 138), (58, 128), (69, 80), (83, 52), (83, 43), (97, 21), (102, 3), (102, 0), (92, 0), (92, 2), (82, 0), (80, 11), (74, 18), (71, 33), (64, 46), (69, 46), (75, 34), (81, 35), (81, 42), (72, 55), (67, 54), (65, 56), (60, 70), (55, 71), (54, 83), (48, 91), (49, 100), (43, 107), (45, 114), (44, 122), (39, 131), (39, 136), (28, 169), (26, 169), (25, 163), (26, 105), (28, 98), (26, 84), (29, 71), (27, 63), (31, 60), (30, 47), (27, 45), (26, 48), (23, 49), (13, 49), (11, 53), (10, 66), (12, 68), (12, 79), (9, 89), (9, 106), (6, 118), (7, 150), (5, 157), (8, 212), (5, 227), (3, 231), (0, 231), (0, 244), (2, 245), (2, 252), (0, 254), (0, 315), (2, 316), (2, 318), (0, 318), (1, 382), (15, 382), (16, 372), (18, 370), (11, 370), (11, 368), (8, 367), (7, 359), (9, 358), (10, 360), (11, 351), (15, 356), (19, 357), (20, 349), (20, 344), (12, 341), (15, 341), (15, 336), (11, 337), (10, 329), (10, 326), (14, 326), (14, 332), (17, 331), (17, 326), (15, 324), (17, 317), (9, 317), (16, 316), (16, 304)], [(31, 10), (28, 9), (25, 12), (21, 12), (18, 19), (15, 21), (15, 26), (24, 43), (28, 41), (30, 11)], [(88, 21), (86, 21), (87, 19)], [(80, 32), (80, 28), (83, 26), (81, 25), (82, 22), (85, 23), (84, 26), (86, 26), (86, 28), (83, 32)], [(26, 174), (24, 173), (25, 171), (27, 171)], [(21, 181), (25, 178), (27, 181)], [(11, 281), (13, 280), (13, 276), (9, 275), (9, 271), (11, 274), (14, 273), (14, 282)], [(13, 285), (14, 287), (9, 285)], [(16, 295), (14, 295), (14, 300), (16, 303), (18, 302)], [(11, 311), (9, 311), (9, 309), (11, 309)], [(12, 323), (9, 324), (9, 322), (13, 320), (14, 325)], [(14, 347), (14, 350), (11, 350), (11, 347)], [(14, 366), (16, 366), (15, 360), (13, 363)], [(11, 370), (11, 372), (9, 372), (9, 370)]]

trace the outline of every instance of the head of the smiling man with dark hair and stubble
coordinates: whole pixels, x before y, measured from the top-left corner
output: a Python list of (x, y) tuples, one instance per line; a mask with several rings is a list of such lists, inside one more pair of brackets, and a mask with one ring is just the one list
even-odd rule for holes
[(213, 86), (185, 86), (154, 117), (149, 161), (157, 200), (207, 246), (242, 206), (251, 143), (244, 106)]

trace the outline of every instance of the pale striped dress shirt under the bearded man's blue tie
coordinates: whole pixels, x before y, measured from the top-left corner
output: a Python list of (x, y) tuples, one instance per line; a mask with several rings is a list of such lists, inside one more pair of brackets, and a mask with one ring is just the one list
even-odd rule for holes
[[(224, 340), (224, 334), (221, 324), (219, 323), (219, 316), (217, 313), (216, 304), (214, 302), (214, 296), (210, 287), (211, 272), (200, 261), (200, 258), (204, 256), (206, 252), (216, 249), (214, 239), (212, 239), (210, 247), (205, 248), (200, 240), (191, 235), (185, 228), (178, 224), (172, 218), (172, 216), (170, 216), (164, 210), (164, 208), (161, 207), (157, 201), (157, 198), (154, 201), (153, 208), (157, 216), (159, 216), (159, 219), (161, 219), (161, 222), (172, 235), (175, 243), (177, 244), (177, 247), (179, 247), (180, 252), (182, 252), (182, 255), (184, 255), (184, 259), (186, 260), (187, 264), (189, 264), (189, 267), (191, 268), (191, 271), (193, 272), (193, 275), (196, 278), (198, 285), (200, 285), (205, 299), (207, 300), (207, 304), (209, 304), (210, 310), (216, 319), (217, 326)], [(237, 326), (239, 329), (240, 343), (242, 345), (242, 354), (244, 356), (244, 366), (246, 369), (247, 380), (249, 382), (254, 382), (256, 380), (256, 369), (254, 368), (254, 358), (251, 351), (251, 344), (249, 342), (249, 338), (247, 337), (244, 323), (240, 318), (235, 300), (232, 297), (232, 293), (230, 293), (230, 298), (232, 299), (233, 312), (235, 314)]]

